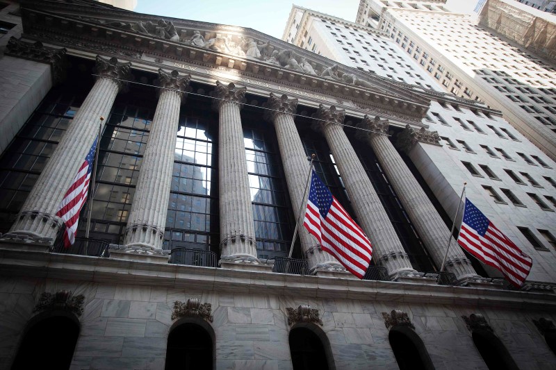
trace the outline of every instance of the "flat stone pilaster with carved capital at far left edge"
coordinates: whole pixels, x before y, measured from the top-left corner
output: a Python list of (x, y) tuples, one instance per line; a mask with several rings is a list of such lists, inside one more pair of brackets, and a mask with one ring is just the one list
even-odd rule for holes
[(10, 37), (0, 58), (0, 154), (53, 85), (64, 79), (65, 49)]

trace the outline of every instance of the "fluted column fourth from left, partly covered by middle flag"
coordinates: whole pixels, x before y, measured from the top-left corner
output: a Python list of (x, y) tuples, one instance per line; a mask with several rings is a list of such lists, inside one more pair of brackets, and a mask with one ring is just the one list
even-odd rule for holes
[[(299, 210), (306, 206), (306, 199), (303, 196), (309, 176), (309, 161), (293, 121), (297, 99), (288, 99), (286, 95), (278, 97), (270, 93), (267, 107), (272, 110), (265, 112), (265, 118), (271, 121), (276, 129), (293, 213), (297, 217)], [(309, 263), (311, 273), (322, 275), (346, 271), (336, 258), (322, 251), (320, 245), (306, 228), (300, 225), (297, 231), (300, 235), (303, 255)]]

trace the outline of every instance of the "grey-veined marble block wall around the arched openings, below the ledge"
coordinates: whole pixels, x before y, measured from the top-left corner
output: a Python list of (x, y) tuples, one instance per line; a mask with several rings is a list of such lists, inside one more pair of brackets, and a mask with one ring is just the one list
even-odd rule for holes
[[(305, 277), (315, 278), (315, 277)], [(305, 279), (303, 278), (303, 279)], [(114, 276), (114, 281), (117, 279)], [(398, 288), (400, 283), (389, 283)], [(411, 290), (411, 284), (404, 284)], [(211, 303), (215, 369), (291, 369), (286, 308), (311, 305), (322, 319), (336, 369), (397, 369), (382, 312), (407, 312), (436, 369), (486, 369), (461, 318), (481, 313), (521, 369), (556, 369), (532, 319), (552, 312), (523, 312), (472, 305), (415, 303), (402, 299), (310, 298), (250, 294), (244, 289), (179, 289), (117, 283), (74, 283), (45, 278), (3, 278), (0, 282), (0, 369), (8, 369), (26, 322), (42, 292), (70, 289), (85, 296), (81, 333), (72, 369), (163, 369), (174, 301)], [(475, 289), (464, 288), (462, 292)]]

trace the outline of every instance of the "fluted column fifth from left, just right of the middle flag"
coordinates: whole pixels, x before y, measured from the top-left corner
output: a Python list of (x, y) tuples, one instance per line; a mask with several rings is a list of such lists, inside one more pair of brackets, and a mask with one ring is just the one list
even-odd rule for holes
[(320, 105), (313, 128), (324, 133), (330, 151), (352, 199), (361, 228), (373, 244), (373, 260), (388, 269), (391, 278), (415, 273), (373, 184), (343, 132), (345, 110)]

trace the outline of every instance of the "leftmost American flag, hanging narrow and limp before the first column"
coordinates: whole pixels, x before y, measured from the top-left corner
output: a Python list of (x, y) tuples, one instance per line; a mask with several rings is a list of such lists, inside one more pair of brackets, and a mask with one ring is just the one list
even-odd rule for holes
[(85, 205), (87, 200), (87, 192), (89, 190), (89, 180), (92, 171), (92, 162), (95, 159), (95, 150), (97, 149), (97, 140), (92, 143), (91, 149), (83, 165), (77, 171), (72, 181), (70, 189), (65, 193), (64, 199), (58, 205), (56, 216), (60, 217), (65, 224), (64, 246), (70, 248), (75, 242), (75, 232), (77, 230), (77, 221), (79, 221), (79, 212)]

